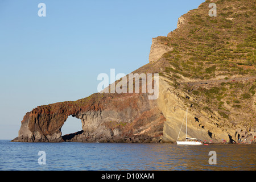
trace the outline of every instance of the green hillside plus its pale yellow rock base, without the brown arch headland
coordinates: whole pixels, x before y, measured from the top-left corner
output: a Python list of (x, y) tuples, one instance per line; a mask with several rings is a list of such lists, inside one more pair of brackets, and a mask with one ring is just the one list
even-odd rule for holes
[[(210, 3), (216, 3), (217, 16), (209, 16)], [(185, 111), (180, 108), (188, 107), (191, 136), (255, 141), (254, 9), (253, 1), (205, 1), (181, 16), (167, 37), (156, 38), (172, 48), (149, 64), (164, 65), (159, 74), (168, 89), (160, 89), (160, 98), (167, 97), (161, 108), (175, 107), (167, 113), (161, 109), (167, 119), (163, 139), (176, 140)]]

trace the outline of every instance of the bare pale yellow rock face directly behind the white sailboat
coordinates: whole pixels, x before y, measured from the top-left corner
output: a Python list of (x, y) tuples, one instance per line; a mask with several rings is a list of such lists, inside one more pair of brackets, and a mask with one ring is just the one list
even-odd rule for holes
[[(180, 131), (179, 140), (185, 139), (185, 114), (186, 109), (184, 100), (185, 95), (182, 92), (178, 92), (172, 88), (164, 79), (159, 80), (159, 99), (158, 107), (162, 110), (166, 122), (163, 127), (163, 140), (165, 142), (175, 143), (178, 139), (180, 127), (183, 127)], [(191, 96), (187, 97), (188, 100), (193, 101)], [(213, 143), (221, 143), (222, 139), (230, 140), (236, 138), (236, 131), (232, 129), (223, 130), (220, 127), (214, 125), (218, 122), (217, 116), (202, 114), (199, 110), (188, 108), (188, 126), (187, 137), (212, 140)]]

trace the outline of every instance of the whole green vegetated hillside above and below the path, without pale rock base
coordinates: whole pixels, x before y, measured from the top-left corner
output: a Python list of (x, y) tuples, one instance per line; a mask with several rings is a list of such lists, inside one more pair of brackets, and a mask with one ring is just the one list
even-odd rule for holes
[[(210, 3), (216, 4), (217, 16), (209, 16)], [(255, 5), (247, 0), (205, 1), (183, 15), (179, 28), (157, 38), (173, 49), (142, 69), (159, 72), (185, 105), (217, 115), (222, 126), (255, 126)], [(212, 80), (216, 82), (208, 84)]]

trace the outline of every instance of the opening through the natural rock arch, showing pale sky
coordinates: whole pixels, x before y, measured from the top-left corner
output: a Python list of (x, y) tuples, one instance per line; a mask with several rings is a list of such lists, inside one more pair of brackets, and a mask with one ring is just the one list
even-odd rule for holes
[(72, 115), (69, 115), (67, 121), (65, 121), (64, 125), (61, 127), (62, 136), (76, 133), (77, 131), (81, 131), (81, 130), (82, 130), (81, 119), (72, 117)]

